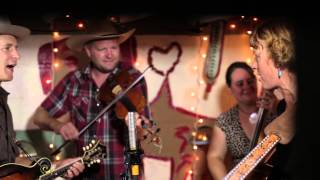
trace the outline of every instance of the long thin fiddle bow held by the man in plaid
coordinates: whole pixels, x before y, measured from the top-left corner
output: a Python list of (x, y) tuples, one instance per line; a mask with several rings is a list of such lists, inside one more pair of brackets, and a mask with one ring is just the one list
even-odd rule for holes
[[(82, 128), (82, 130), (79, 132), (79, 137), (86, 131), (88, 130), (89, 127), (91, 127), (95, 122), (97, 122), (97, 120), (105, 113), (107, 112), (116, 102), (118, 102), (133, 86), (135, 86), (144, 76), (144, 73), (150, 69), (151, 66), (148, 66), (143, 72), (142, 74), (132, 83), (130, 84), (130, 86), (125, 89), (124, 91), (120, 92), (118, 94), (118, 96), (116, 96), (109, 104), (108, 106), (106, 106), (105, 108), (103, 108), (99, 114), (96, 116), (95, 119), (93, 119), (92, 121), (90, 121), (84, 128)], [(67, 140), (65, 141), (62, 145), (60, 145), (60, 147), (58, 149), (56, 149), (54, 152), (51, 153), (51, 156), (54, 156), (56, 154), (58, 154), (61, 150), (62, 147), (64, 147), (65, 145), (67, 145), (71, 140)]]

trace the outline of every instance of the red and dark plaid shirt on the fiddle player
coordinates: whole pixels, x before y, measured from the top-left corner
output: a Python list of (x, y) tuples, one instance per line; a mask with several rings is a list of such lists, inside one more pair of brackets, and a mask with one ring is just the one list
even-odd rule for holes
[[(91, 120), (95, 119), (103, 109), (97, 99), (99, 88), (90, 75), (91, 65), (84, 69), (70, 72), (54, 88), (41, 106), (49, 114), (57, 118), (66, 112), (71, 113), (72, 122), (80, 131)], [(117, 67), (128, 71), (136, 79), (141, 73), (120, 63)], [(110, 79), (111, 76), (108, 76)], [(111, 79), (110, 79), (111, 80)], [(143, 93), (147, 101), (147, 86), (142, 79), (134, 88)], [(144, 108), (144, 115), (149, 117), (148, 106)], [(82, 147), (92, 139), (100, 139), (106, 146), (106, 158), (102, 163), (90, 168), (79, 176), (79, 179), (120, 179), (124, 169), (124, 147), (127, 141), (127, 126), (123, 120), (115, 116), (114, 108), (107, 111), (93, 126), (91, 126), (76, 142), (77, 155), (82, 155)]]

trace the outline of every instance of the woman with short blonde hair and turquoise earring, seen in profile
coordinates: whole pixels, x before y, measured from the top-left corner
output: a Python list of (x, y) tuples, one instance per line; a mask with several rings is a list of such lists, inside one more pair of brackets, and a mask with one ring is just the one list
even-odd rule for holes
[(288, 165), (295, 135), (297, 77), (295, 71), (295, 34), (288, 20), (265, 21), (250, 37), (254, 48), (258, 79), (264, 89), (277, 90), (284, 98), (285, 108), (265, 129), (280, 137), (273, 155), (273, 170), (268, 179), (289, 179)]

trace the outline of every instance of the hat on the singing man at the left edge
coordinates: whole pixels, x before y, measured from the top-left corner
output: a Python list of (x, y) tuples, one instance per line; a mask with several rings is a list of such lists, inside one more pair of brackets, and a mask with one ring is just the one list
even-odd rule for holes
[(0, 17), (0, 35), (13, 35), (21, 40), (30, 35), (30, 30), (23, 26), (12, 25), (9, 19)]

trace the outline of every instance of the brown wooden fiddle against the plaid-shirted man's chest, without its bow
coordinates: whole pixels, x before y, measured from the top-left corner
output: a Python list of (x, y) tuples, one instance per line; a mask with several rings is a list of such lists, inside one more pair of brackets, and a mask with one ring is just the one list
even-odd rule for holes
[[(117, 96), (124, 92), (124, 89), (130, 88), (129, 86), (137, 80), (129, 74), (128, 69), (120, 70), (116, 68), (110, 76), (100, 87), (97, 99), (103, 104), (107, 105), (113, 101)], [(143, 95), (143, 91), (137, 86), (133, 86), (129, 91), (127, 91), (122, 98), (115, 104), (115, 114), (118, 119), (125, 119), (128, 112), (137, 112), (142, 114), (145, 106), (147, 105), (146, 97)], [(143, 139), (147, 139), (151, 135), (150, 142), (159, 144), (160, 138), (156, 135), (160, 128), (154, 129), (155, 122), (150, 121), (151, 127), (145, 123), (146, 118), (142, 118), (141, 124), (144, 129), (146, 129), (146, 134), (143, 135)]]

